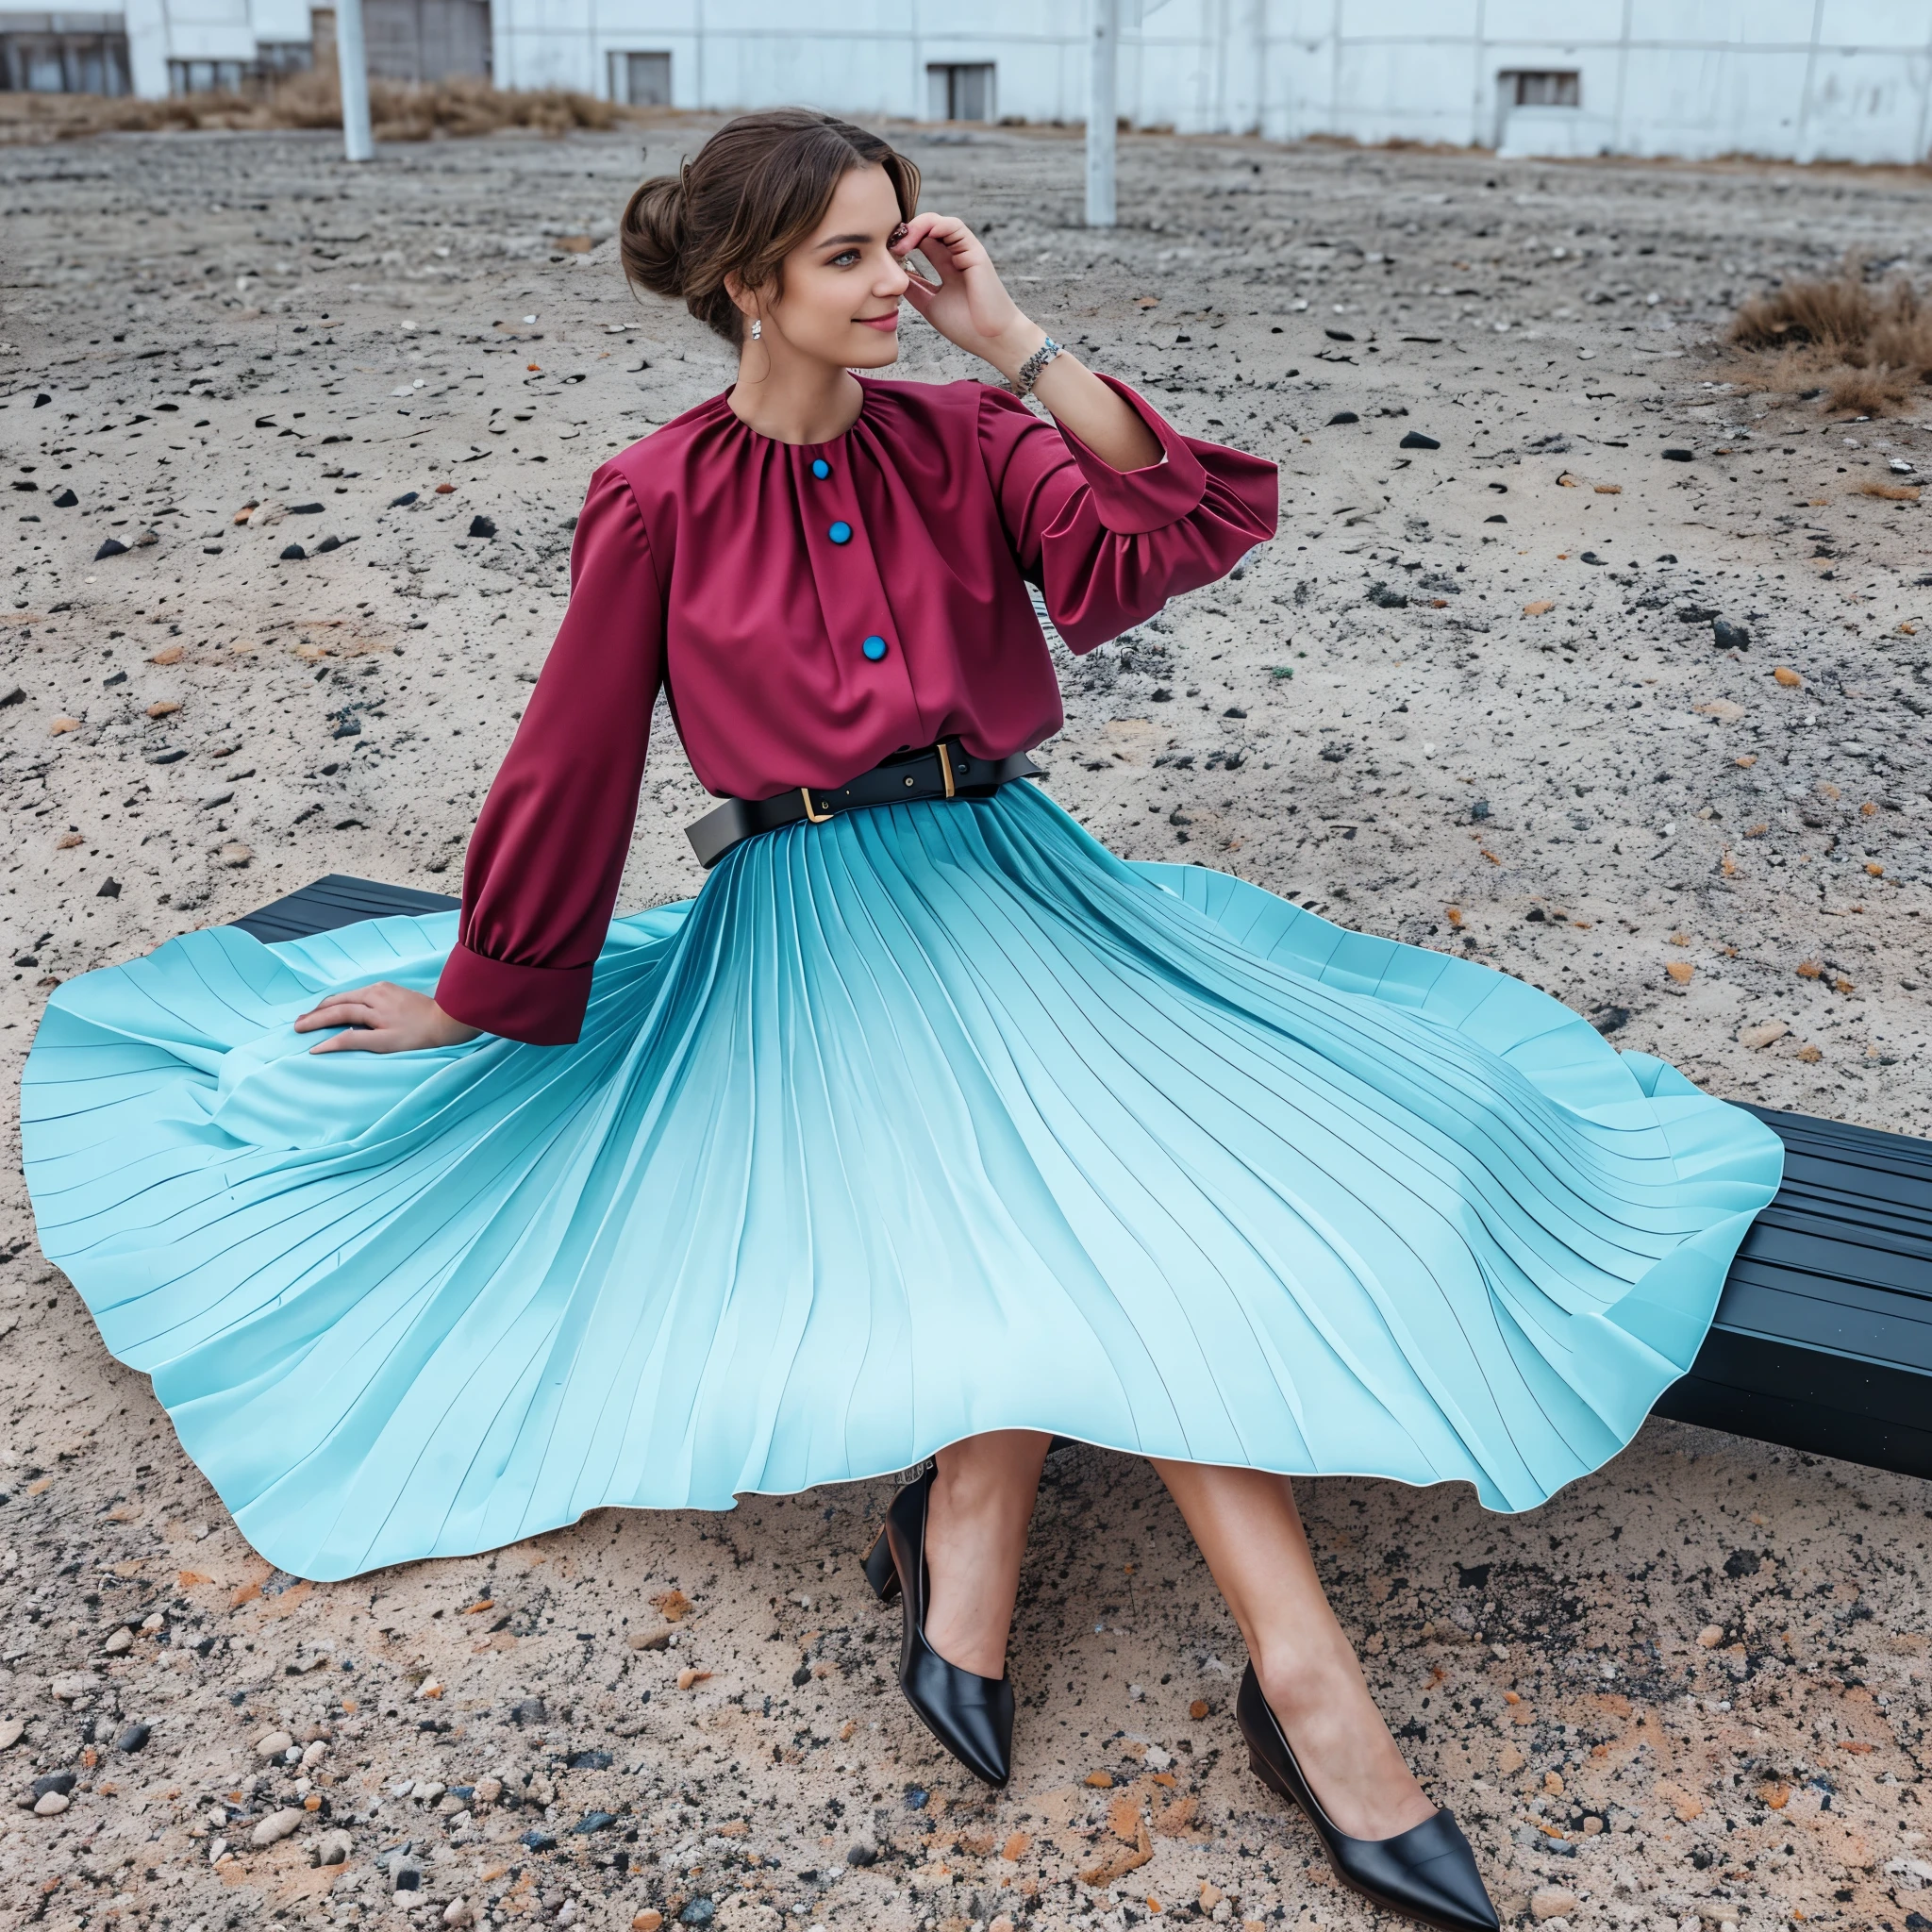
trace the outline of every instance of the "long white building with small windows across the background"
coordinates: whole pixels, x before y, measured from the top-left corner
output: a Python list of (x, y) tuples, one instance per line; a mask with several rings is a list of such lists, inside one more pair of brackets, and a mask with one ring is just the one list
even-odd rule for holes
[[(124, 23), (137, 93), (232, 85), (242, 70), (299, 64), (317, 39), (305, 0), (126, 4), (126, 15), (0, 12), (0, 85), (75, 85), (46, 56), (60, 21), (87, 23), (97, 43)], [(400, 77), (491, 71), (504, 87), (639, 104), (808, 102), (881, 120), (1086, 112), (1090, 0), (365, 6), (371, 62)], [(1122, 12), (1119, 102), (1142, 128), (1538, 155), (1932, 153), (1932, 0), (1122, 0)], [(29, 43), (37, 68), (15, 58)], [(79, 71), (77, 56), (68, 66)], [(99, 56), (89, 71), (102, 71)]]

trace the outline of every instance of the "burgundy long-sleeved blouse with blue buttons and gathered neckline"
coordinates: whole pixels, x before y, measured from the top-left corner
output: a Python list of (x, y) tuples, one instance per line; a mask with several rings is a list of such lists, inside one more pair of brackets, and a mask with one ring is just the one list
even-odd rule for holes
[(983, 383), (871, 383), (835, 442), (724, 396), (591, 477), (570, 607), (464, 862), (444, 1012), (578, 1037), (630, 850), (657, 686), (711, 792), (838, 786), (893, 752), (1026, 752), (1061, 726), (1037, 583), (1074, 651), (1275, 533), (1275, 466), (1179, 435), (1119, 471)]

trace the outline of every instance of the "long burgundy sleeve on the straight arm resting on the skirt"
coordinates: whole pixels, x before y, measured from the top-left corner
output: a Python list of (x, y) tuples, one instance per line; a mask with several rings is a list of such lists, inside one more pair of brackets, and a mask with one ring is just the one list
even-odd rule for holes
[(464, 860), (437, 1005), (539, 1047), (583, 1026), (591, 966), (638, 817), (665, 599), (630, 483), (591, 477), (570, 545), (570, 605)]

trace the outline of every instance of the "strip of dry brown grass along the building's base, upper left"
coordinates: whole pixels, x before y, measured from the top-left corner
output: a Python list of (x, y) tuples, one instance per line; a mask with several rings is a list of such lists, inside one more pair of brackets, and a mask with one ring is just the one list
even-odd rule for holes
[[(491, 87), (481, 79), (410, 87), (369, 83), (369, 118), (379, 141), (433, 141), (529, 128), (614, 128), (626, 118), (609, 100), (568, 87), (529, 91)], [(332, 71), (294, 73), (261, 95), (178, 95), (168, 100), (106, 95), (0, 95), (0, 141), (73, 141), (95, 133), (160, 133), (242, 128), (340, 128), (342, 97)]]

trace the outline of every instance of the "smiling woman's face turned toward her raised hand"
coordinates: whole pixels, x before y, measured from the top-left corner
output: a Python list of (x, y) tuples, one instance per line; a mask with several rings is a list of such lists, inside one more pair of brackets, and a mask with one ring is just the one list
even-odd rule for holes
[[(879, 369), (898, 357), (906, 270), (893, 255), (904, 228), (885, 168), (848, 168), (813, 234), (784, 257), (784, 294), (763, 288), (750, 313), (761, 346), (835, 369)], [(750, 336), (750, 328), (746, 330)]]

